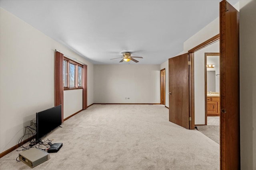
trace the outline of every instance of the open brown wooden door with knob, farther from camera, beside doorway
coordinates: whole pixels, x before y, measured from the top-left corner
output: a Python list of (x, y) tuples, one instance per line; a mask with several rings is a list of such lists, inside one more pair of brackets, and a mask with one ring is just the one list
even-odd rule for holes
[(188, 53), (169, 59), (169, 121), (189, 129)]

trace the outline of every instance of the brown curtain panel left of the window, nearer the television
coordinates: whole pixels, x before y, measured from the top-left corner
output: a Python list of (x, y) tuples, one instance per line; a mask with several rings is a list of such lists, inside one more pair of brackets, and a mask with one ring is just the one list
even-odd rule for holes
[(58, 51), (55, 51), (55, 89), (54, 89), (54, 106), (61, 105), (61, 117), (62, 123), (64, 121), (63, 118), (63, 99), (64, 99), (64, 91), (63, 91), (63, 59), (64, 55)]

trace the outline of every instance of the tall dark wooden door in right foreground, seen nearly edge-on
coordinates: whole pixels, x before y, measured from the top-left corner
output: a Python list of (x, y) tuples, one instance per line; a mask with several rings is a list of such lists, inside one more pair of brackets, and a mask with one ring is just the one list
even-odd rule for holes
[(240, 169), (239, 12), (220, 2), (220, 169)]

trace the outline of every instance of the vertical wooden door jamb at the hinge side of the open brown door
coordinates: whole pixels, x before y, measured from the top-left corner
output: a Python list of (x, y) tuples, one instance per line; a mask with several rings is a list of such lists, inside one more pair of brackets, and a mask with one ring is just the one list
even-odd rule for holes
[(190, 111), (189, 116), (191, 117), (189, 129), (195, 129), (195, 93), (194, 93), (194, 53), (189, 53), (190, 69), (189, 69), (189, 104)]

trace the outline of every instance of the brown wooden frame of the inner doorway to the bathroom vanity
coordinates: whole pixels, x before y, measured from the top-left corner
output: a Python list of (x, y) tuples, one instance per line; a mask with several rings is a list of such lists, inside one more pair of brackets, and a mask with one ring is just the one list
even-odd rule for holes
[[(207, 114), (207, 56), (220, 56), (220, 53), (204, 53), (204, 110), (205, 110), (205, 120), (204, 120), (204, 124), (207, 125), (207, 116), (209, 116)], [(215, 114), (211, 114), (212, 116), (214, 116)], [(216, 114), (219, 116), (219, 114)]]

